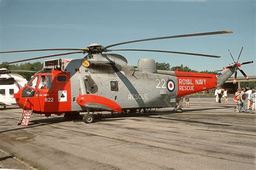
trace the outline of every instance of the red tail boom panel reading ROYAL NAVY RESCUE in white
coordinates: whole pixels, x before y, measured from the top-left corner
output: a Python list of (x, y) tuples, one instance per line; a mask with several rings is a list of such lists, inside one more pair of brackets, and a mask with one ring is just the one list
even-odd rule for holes
[(177, 97), (212, 89), (217, 86), (215, 74), (175, 72), (177, 75)]

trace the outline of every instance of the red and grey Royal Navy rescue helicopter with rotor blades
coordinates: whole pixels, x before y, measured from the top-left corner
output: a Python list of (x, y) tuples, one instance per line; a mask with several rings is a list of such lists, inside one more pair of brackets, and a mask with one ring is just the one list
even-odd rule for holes
[[(53, 59), (44, 61), (43, 70), (37, 72), (14, 97), (18, 106), (28, 112), (44, 114), (46, 117), (51, 114), (65, 114), (65, 116), (69, 116), (77, 115), (80, 112), (87, 112), (83, 116), (83, 121), (85, 123), (92, 123), (94, 121), (93, 114), (95, 111), (122, 113), (127, 110), (133, 112), (137, 109), (176, 107), (177, 98), (219, 87), (242, 64), (245, 64), (235, 62), (225, 67), (217, 75), (179, 72), (178, 70), (157, 70), (156, 63), (153, 59), (139, 59), (138, 68), (134, 68), (127, 63), (124, 56), (106, 52), (143, 51), (196, 55), (211, 58), (220, 58), (220, 56), (152, 49), (109, 49), (110, 47), (142, 41), (225, 33), (232, 33), (232, 31), (139, 39), (105, 47), (99, 44), (91, 44), (87, 48), (29, 49), (0, 53), (75, 51), (37, 56), (32, 59), (6, 62), (2, 65), (53, 56), (77, 53), (87, 54), (84, 58), (80, 59)], [(182, 110), (178, 108), (177, 111), (181, 112)]]

